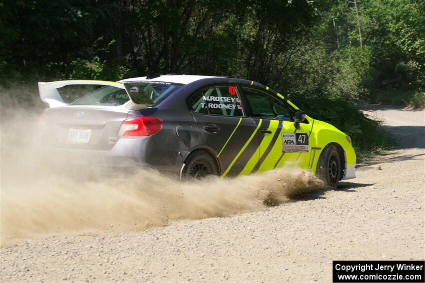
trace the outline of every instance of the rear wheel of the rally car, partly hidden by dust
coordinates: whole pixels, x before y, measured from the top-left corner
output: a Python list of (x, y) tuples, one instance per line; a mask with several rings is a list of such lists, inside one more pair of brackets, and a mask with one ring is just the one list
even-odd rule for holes
[(184, 161), (181, 179), (202, 179), (208, 175), (217, 175), (217, 172), (217, 165), (211, 155), (204, 151), (195, 151)]

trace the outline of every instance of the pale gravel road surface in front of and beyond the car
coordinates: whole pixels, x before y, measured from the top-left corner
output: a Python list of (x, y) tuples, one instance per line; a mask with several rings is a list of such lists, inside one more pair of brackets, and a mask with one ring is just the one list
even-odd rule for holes
[(337, 190), (144, 232), (18, 241), (0, 250), (0, 281), (329, 282), (332, 260), (423, 260), (425, 113), (367, 113), (400, 148)]

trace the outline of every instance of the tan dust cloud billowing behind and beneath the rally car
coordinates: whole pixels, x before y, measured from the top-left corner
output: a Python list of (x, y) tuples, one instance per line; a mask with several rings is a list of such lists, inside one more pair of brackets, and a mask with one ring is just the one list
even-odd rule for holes
[(45, 105), (36, 90), (0, 89), (0, 95), (2, 247), (17, 239), (141, 231), (179, 219), (259, 211), (322, 185), (308, 172), (287, 168), (185, 182), (154, 170), (119, 178), (88, 176), (84, 168), (70, 174), (67, 160), (59, 160), (57, 172), (57, 157), (37, 142)]

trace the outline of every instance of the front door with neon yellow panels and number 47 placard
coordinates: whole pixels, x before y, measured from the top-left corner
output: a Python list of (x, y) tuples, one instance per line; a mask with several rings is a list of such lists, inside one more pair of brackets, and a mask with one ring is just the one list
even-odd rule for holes
[(296, 129), (293, 123), (295, 109), (267, 90), (248, 85), (241, 85), (241, 90), (249, 115), (254, 120), (262, 120), (257, 132), (258, 162), (247, 164), (241, 172), (262, 172), (283, 166), (308, 168), (311, 124), (302, 122)]

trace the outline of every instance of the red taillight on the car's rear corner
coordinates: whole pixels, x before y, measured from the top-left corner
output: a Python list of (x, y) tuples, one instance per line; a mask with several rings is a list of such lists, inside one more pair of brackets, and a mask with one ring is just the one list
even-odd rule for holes
[(156, 117), (133, 117), (122, 122), (118, 137), (122, 136), (150, 136), (159, 131), (162, 121)]

